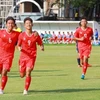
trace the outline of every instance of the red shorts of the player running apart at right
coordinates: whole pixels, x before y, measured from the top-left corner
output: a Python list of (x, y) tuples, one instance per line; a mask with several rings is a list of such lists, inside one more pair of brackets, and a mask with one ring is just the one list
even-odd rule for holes
[(86, 57), (90, 57), (90, 53), (91, 53), (91, 49), (90, 47), (87, 47), (87, 48), (79, 48), (79, 55), (80, 55), (80, 58), (82, 59), (84, 56)]

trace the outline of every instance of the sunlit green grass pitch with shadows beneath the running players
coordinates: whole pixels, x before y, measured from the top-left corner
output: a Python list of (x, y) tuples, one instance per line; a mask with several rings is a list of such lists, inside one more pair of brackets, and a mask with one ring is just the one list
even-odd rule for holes
[(18, 58), (15, 59), (4, 95), (0, 100), (100, 100), (100, 47), (93, 46), (91, 68), (85, 80), (81, 80), (81, 68), (77, 67), (75, 45), (45, 45), (38, 48), (38, 56), (29, 94), (22, 94), (24, 79), (19, 77)]

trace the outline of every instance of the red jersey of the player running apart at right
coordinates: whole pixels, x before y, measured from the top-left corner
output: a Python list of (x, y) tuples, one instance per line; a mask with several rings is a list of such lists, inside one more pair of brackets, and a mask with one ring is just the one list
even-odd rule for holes
[(90, 46), (92, 35), (93, 35), (92, 28), (87, 27), (85, 30), (82, 30), (81, 27), (79, 27), (76, 30), (74, 37), (76, 37), (76, 38), (84, 37), (85, 39), (83, 41), (78, 41), (78, 48)]

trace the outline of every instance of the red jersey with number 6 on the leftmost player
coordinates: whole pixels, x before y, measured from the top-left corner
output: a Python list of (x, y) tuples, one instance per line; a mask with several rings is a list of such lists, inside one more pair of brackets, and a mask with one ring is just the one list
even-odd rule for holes
[(13, 57), (19, 32), (0, 30), (0, 58)]

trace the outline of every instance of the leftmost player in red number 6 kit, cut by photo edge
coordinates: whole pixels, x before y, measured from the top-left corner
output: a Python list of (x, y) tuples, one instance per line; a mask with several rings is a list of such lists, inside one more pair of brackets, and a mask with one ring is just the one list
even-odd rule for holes
[(12, 60), (14, 57), (15, 46), (17, 44), (19, 32), (13, 31), (15, 25), (15, 19), (8, 17), (6, 19), (6, 29), (0, 30), (0, 94), (3, 94), (3, 90), (6, 86), (10, 71)]

